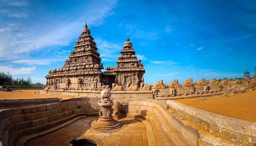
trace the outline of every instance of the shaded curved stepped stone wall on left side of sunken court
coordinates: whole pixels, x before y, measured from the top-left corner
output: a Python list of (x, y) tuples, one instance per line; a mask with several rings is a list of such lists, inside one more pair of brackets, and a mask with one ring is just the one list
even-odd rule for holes
[(3, 146), (22, 145), (28, 140), (26, 138), (35, 138), (40, 132), (47, 133), (50, 128), (76, 117), (98, 116), (97, 102), (98, 98), (79, 97), (0, 110), (0, 141)]

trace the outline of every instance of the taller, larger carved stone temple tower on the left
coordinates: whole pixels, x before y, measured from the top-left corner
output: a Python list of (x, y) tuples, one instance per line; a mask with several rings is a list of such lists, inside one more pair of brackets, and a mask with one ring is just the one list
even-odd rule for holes
[(97, 52), (94, 38), (85, 24), (62, 68), (49, 71), (47, 87), (51, 89), (101, 88), (103, 64)]

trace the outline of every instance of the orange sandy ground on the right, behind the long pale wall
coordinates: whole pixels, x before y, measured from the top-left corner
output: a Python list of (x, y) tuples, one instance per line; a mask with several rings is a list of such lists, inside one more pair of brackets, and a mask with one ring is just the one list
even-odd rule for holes
[(176, 99), (174, 101), (237, 119), (256, 122), (256, 90), (237, 94), (233, 97), (209, 97), (207, 100), (197, 101), (199, 98)]

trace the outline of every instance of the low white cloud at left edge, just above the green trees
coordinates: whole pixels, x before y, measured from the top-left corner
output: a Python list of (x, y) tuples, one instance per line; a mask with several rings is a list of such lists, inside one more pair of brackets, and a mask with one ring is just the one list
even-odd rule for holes
[(12, 68), (10, 66), (1, 66), (0, 70), (4, 72), (10, 72), (12, 76), (19, 75), (19, 74), (28, 74), (33, 72), (35, 69), (37, 69), (35, 66), (31, 67), (22, 67), (22, 68)]

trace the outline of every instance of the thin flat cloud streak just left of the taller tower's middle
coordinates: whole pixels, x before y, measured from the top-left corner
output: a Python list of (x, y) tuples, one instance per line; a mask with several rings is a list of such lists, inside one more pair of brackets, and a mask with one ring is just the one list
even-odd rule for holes
[(48, 65), (52, 62), (57, 61), (64, 61), (64, 58), (62, 59), (20, 59), (20, 60), (14, 60), (11, 61), (11, 63), (15, 64), (26, 64), (26, 65)]

